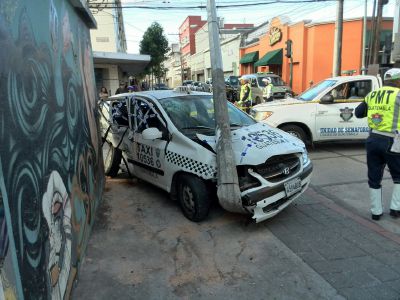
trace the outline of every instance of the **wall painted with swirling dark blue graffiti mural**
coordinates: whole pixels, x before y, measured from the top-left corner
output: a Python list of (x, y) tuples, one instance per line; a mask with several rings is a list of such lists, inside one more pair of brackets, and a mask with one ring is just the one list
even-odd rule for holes
[(101, 199), (85, 5), (0, 1), (0, 299), (68, 299)]

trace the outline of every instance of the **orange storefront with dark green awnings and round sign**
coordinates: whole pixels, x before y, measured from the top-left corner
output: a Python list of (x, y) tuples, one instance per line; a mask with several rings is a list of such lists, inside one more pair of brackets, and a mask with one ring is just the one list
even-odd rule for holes
[[(370, 24), (368, 24), (369, 28)], [(381, 47), (391, 35), (393, 19), (382, 21)], [(361, 74), (363, 20), (345, 20), (343, 24), (342, 71)], [(301, 93), (311, 84), (332, 76), (335, 23), (295, 24), (274, 18), (267, 33), (240, 49), (240, 74), (273, 72), (289, 83), (290, 60), (285, 56), (285, 42), (292, 40), (293, 91)], [(256, 53), (256, 54), (255, 54)]]

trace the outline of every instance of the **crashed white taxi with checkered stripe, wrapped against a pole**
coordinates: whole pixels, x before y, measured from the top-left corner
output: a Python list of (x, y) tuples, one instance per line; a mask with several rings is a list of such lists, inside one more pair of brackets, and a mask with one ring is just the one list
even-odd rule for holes
[[(241, 192), (237, 209), (260, 222), (305, 191), (312, 163), (292, 135), (231, 103), (228, 113)], [(123, 157), (131, 174), (177, 199), (189, 220), (207, 217), (217, 197), (212, 95), (190, 89), (120, 94), (103, 103), (101, 116), (107, 175), (118, 173)]]

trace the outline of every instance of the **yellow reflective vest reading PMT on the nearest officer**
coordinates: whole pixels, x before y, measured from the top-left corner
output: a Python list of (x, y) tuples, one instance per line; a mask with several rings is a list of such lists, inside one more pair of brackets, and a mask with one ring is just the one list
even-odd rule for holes
[(382, 132), (400, 129), (400, 89), (385, 86), (365, 97), (368, 105), (368, 126)]

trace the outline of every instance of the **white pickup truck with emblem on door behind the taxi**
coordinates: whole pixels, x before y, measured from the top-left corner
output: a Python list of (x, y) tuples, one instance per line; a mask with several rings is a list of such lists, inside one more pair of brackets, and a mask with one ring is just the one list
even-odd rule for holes
[(357, 119), (354, 109), (371, 90), (381, 86), (379, 76), (328, 78), (296, 98), (256, 105), (250, 114), (307, 143), (365, 139), (367, 120)]

